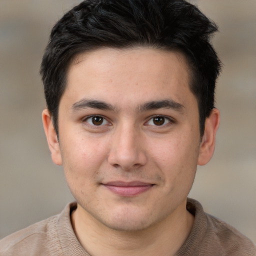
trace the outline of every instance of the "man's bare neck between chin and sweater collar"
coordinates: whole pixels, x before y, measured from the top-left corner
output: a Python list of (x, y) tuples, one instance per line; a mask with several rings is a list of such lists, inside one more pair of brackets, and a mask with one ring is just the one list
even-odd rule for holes
[[(87, 212), (86, 212), (87, 213)], [(74, 232), (88, 253), (105, 255), (174, 255), (187, 238), (193, 216), (185, 202), (171, 216), (143, 230), (113, 230), (95, 220), (78, 204), (71, 214)]]

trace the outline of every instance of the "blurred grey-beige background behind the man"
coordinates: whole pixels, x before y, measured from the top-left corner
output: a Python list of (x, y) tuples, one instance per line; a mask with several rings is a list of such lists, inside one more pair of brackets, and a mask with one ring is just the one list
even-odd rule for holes
[[(44, 137), (38, 70), (51, 27), (79, 2), (0, 0), (0, 238), (73, 200)], [(219, 25), (223, 70), (215, 154), (189, 196), (256, 243), (256, 1), (191, 2)]]

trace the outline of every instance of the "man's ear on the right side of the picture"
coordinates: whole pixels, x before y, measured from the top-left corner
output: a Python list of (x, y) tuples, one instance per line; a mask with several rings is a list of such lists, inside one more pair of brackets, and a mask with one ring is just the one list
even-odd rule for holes
[(213, 155), (219, 119), (219, 110), (213, 108), (209, 117), (205, 120), (204, 133), (200, 143), (200, 151), (197, 160), (198, 165), (206, 164)]

